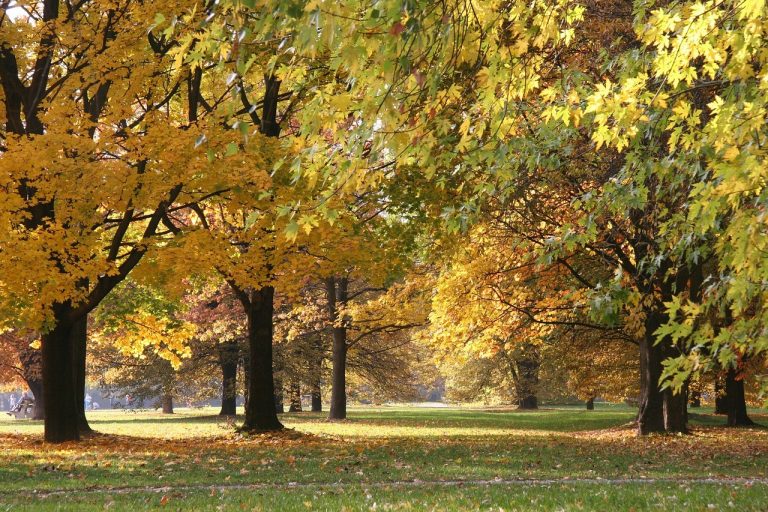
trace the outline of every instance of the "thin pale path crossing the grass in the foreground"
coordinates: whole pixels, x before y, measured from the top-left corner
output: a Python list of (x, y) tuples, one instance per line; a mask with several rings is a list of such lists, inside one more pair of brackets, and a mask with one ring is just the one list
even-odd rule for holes
[(352, 489), (352, 488), (387, 488), (387, 487), (449, 487), (449, 486), (540, 486), (540, 485), (768, 485), (768, 477), (669, 477), (669, 478), (540, 478), (540, 479), (503, 479), (493, 480), (392, 480), (379, 482), (285, 482), (285, 483), (217, 483), (193, 485), (135, 486), (135, 487), (87, 487), (84, 489), (51, 489), (31, 491), (0, 491), (6, 494), (25, 495), (38, 498), (66, 496), (69, 494), (133, 494), (133, 493), (169, 493), (207, 490), (290, 490), (290, 489)]

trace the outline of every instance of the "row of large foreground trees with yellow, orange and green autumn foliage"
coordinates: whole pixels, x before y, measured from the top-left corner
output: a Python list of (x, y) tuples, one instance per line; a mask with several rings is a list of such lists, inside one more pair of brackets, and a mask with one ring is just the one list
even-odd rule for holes
[(618, 374), (636, 346), (641, 433), (764, 368), (761, 0), (0, 6), (0, 311), (42, 333), (49, 441), (87, 429), (87, 318), (130, 275), (228, 287), (245, 429), (281, 427), (275, 319), (311, 283), (334, 417), (348, 351), (427, 314), (528, 405), (550, 346)]

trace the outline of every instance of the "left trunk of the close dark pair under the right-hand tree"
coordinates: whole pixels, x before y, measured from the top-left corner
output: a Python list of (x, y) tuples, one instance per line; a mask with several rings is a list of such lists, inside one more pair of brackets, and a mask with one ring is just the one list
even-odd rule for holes
[(641, 435), (664, 432), (664, 398), (659, 390), (662, 372), (661, 347), (654, 345), (654, 333), (661, 325), (661, 317), (653, 310), (646, 311), (645, 335), (640, 340), (640, 409), (637, 415), (638, 433)]

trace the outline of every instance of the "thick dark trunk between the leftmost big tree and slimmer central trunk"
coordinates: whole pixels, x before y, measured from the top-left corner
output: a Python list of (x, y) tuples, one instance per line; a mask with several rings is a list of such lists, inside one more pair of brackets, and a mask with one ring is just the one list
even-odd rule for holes
[(275, 410), (275, 383), (272, 375), (272, 322), (275, 290), (265, 286), (248, 292), (245, 306), (248, 314), (248, 348), (250, 379), (248, 406), (245, 409), (246, 431), (280, 430), (283, 425)]

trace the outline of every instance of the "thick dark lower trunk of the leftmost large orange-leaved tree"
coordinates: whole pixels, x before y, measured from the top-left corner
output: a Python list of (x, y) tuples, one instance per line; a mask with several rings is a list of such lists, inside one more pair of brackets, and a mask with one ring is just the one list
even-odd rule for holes
[(80, 439), (70, 313), (68, 305), (54, 304), (55, 327), (42, 337), (45, 440), (51, 443)]

